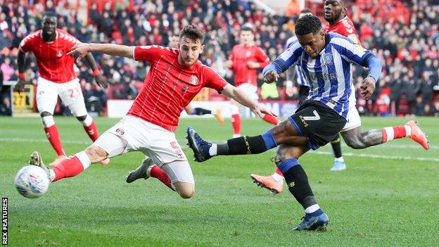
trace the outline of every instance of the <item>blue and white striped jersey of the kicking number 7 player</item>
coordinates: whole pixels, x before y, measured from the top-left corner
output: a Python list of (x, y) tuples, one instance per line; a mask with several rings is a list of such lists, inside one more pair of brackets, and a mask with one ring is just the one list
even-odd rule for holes
[[(372, 53), (355, 44), (340, 34), (326, 34), (326, 46), (316, 58), (311, 58), (299, 44), (293, 42), (273, 62), (281, 68), (281, 72), (290, 66), (300, 65), (307, 82), (310, 95), (307, 100), (324, 103), (346, 118), (352, 92), (352, 63), (367, 67), (367, 61)], [(279, 71), (278, 71), (279, 72)]]

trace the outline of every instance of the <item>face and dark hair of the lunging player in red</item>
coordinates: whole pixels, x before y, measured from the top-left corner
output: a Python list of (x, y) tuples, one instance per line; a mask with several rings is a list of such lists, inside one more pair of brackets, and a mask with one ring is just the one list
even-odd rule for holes
[(179, 62), (184, 67), (191, 67), (193, 63), (198, 60), (198, 56), (203, 53), (204, 44), (201, 44), (200, 39), (190, 39), (188, 37), (182, 37), (179, 42)]

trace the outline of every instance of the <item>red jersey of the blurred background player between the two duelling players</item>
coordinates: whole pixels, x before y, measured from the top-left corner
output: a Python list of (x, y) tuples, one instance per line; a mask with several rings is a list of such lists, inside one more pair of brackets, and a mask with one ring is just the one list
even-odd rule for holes
[(235, 86), (238, 87), (243, 83), (250, 83), (257, 86), (256, 82), (256, 68), (248, 68), (247, 62), (253, 61), (260, 63), (260, 68), (264, 68), (269, 64), (269, 58), (264, 51), (255, 44), (251, 46), (244, 46), (237, 44), (231, 50), (229, 59), (233, 62), (231, 70), (235, 76)]

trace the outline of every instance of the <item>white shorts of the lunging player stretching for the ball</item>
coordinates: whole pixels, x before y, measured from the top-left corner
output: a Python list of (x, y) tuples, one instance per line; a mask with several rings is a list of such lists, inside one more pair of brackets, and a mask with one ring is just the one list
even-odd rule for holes
[[(103, 148), (108, 158), (119, 156), (122, 153), (141, 151), (152, 158), (154, 163), (163, 167), (172, 182), (194, 183), (191, 165), (182, 148), (175, 138), (174, 132), (163, 127), (126, 115), (116, 125), (94, 142), (94, 145)], [(179, 162), (178, 166), (173, 165)]]

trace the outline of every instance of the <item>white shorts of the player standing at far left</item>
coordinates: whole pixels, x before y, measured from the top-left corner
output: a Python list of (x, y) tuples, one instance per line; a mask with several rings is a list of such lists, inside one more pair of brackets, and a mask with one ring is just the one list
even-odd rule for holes
[(76, 78), (70, 82), (56, 83), (38, 78), (37, 108), (39, 113), (44, 111), (53, 114), (58, 96), (64, 106), (68, 106), (75, 117), (87, 115), (84, 96), (82, 96), (79, 80)]

